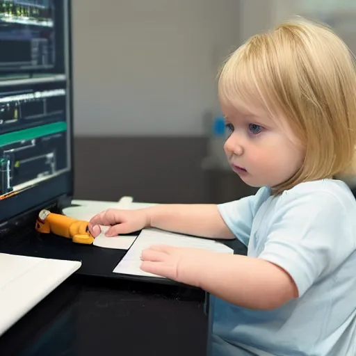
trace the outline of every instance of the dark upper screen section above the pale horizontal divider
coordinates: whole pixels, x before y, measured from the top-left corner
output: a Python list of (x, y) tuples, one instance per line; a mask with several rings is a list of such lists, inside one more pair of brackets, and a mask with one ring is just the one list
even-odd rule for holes
[(66, 3), (0, 0), (0, 75), (65, 74)]

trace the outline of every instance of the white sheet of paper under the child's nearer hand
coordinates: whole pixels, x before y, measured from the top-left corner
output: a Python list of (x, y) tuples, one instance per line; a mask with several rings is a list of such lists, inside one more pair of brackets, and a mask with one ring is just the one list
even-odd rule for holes
[(113, 270), (114, 273), (123, 273), (126, 275), (142, 275), (147, 277), (159, 277), (153, 273), (148, 273), (140, 269), (142, 263), (140, 257), (143, 250), (151, 245), (163, 244), (177, 247), (202, 248), (215, 252), (234, 253), (234, 251), (224, 245), (207, 238), (197, 238), (172, 232), (166, 232), (159, 229), (143, 229), (136, 238), (118, 266)]

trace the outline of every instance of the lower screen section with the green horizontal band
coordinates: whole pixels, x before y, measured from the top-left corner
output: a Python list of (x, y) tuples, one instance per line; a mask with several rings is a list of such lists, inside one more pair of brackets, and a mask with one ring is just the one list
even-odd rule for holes
[(42, 83), (0, 92), (0, 195), (67, 170), (66, 88)]

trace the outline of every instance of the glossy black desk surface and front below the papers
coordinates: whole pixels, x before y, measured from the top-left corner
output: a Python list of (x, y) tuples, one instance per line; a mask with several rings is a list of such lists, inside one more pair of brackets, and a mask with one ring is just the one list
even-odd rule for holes
[(121, 250), (76, 245), (31, 230), (10, 242), (0, 240), (0, 252), (74, 257), (83, 264), (0, 337), (0, 355), (207, 354), (204, 291), (104, 277), (122, 258)]

